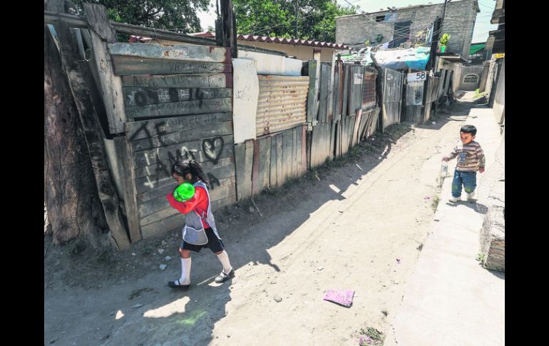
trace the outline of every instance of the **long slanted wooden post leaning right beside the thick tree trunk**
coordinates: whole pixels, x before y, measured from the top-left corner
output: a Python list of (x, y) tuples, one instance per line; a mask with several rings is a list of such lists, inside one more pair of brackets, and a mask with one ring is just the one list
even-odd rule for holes
[(58, 25), (59, 46), (63, 69), (66, 71), (69, 86), (76, 101), (76, 107), (82, 123), (88, 150), (93, 166), (93, 173), (96, 178), (99, 198), (105, 211), (108, 227), (116, 247), (125, 250), (130, 242), (126, 234), (125, 225), (120, 211), (120, 201), (113, 183), (111, 172), (108, 167), (106, 151), (101, 136), (102, 130), (99, 125), (96, 109), (86, 86), (86, 74), (78, 61), (78, 46), (73, 41), (68, 24), (60, 22)]

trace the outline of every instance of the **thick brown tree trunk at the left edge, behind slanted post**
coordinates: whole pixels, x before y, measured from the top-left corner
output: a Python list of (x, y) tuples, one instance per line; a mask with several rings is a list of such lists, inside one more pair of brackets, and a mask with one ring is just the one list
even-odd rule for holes
[(84, 238), (108, 245), (78, 110), (56, 44), (44, 26), (44, 202), (53, 243)]

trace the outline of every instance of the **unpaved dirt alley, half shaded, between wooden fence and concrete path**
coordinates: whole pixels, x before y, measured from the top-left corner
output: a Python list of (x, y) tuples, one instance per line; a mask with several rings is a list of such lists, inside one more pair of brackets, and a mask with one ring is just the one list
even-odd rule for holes
[[(123, 252), (60, 248), (46, 235), (44, 343), (379, 342), (374, 332), (389, 330), (430, 230), (438, 146), (460, 125), (391, 126), (344, 158), (218, 210), (236, 272), (223, 285), (212, 283), (219, 261), (202, 250), (188, 292), (165, 286), (180, 275), (180, 230)], [(328, 289), (354, 290), (352, 307), (322, 300)]]

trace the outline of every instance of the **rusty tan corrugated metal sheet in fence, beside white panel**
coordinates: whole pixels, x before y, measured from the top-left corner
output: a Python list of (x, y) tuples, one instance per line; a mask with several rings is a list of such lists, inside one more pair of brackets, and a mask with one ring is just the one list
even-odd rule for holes
[(309, 76), (257, 76), (257, 136), (283, 131), (307, 121)]

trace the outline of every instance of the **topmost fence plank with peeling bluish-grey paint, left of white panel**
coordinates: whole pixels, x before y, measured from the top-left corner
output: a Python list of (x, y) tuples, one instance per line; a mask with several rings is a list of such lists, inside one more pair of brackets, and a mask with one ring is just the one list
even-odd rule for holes
[(186, 61), (225, 62), (227, 49), (216, 46), (182, 46), (180, 44), (129, 44), (118, 42), (109, 44), (108, 51), (113, 55), (140, 56), (143, 58), (165, 58)]

